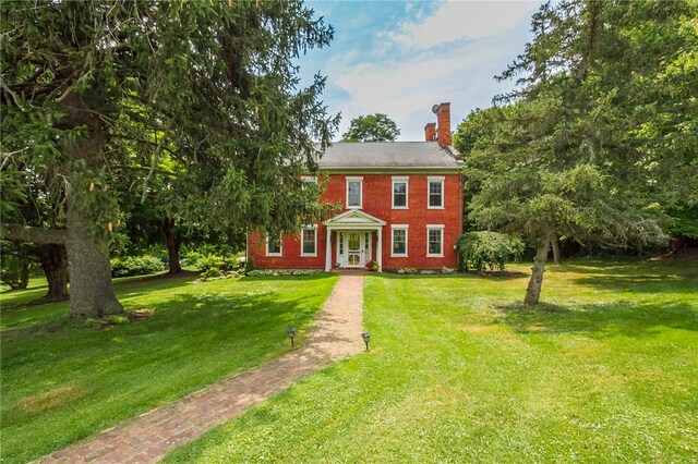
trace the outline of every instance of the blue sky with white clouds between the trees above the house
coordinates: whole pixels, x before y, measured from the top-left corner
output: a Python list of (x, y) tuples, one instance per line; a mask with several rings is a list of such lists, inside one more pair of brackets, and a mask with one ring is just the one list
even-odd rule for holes
[(423, 141), (431, 108), (450, 101), (452, 130), (513, 83), (502, 72), (530, 39), (540, 1), (309, 1), (335, 28), (329, 47), (300, 60), (303, 82), (327, 76), (323, 99), (341, 112), (336, 139), (352, 118), (382, 112), (399, 141)]

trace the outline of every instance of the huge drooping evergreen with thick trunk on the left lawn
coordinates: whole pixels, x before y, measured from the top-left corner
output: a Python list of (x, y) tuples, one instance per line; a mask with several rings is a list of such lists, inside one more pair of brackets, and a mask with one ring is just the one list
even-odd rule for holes
[(300, 87), (292, 60), (333, 30), (300, 1), (0, 9), (3, 204), (27, 200), (22, 184), (47, 170), (45, 195), (65, 210), (56, 229), (3, 216), (2, 236), (65, 245), (70, 316), (123, 312), (115, 184), (146, 191), (166, 152), (181, 167), (166, 207), (183, 223), (293, 229), (318, 213), (299, 174), (316, 170), (337, 119), (320, 101), (324, 78)]

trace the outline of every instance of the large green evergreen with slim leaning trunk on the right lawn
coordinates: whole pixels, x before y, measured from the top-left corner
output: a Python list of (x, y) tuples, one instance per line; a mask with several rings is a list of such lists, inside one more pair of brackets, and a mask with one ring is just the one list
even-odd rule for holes
[(518, 88), (466, 152), (472, 220), (537, 251), (527, 304), (557, 234), (642, 246), (665, 241), (666, 211), (696, 204), (697, 15), (695, 2), (569, 0), (533, 16), (498, 76)]

